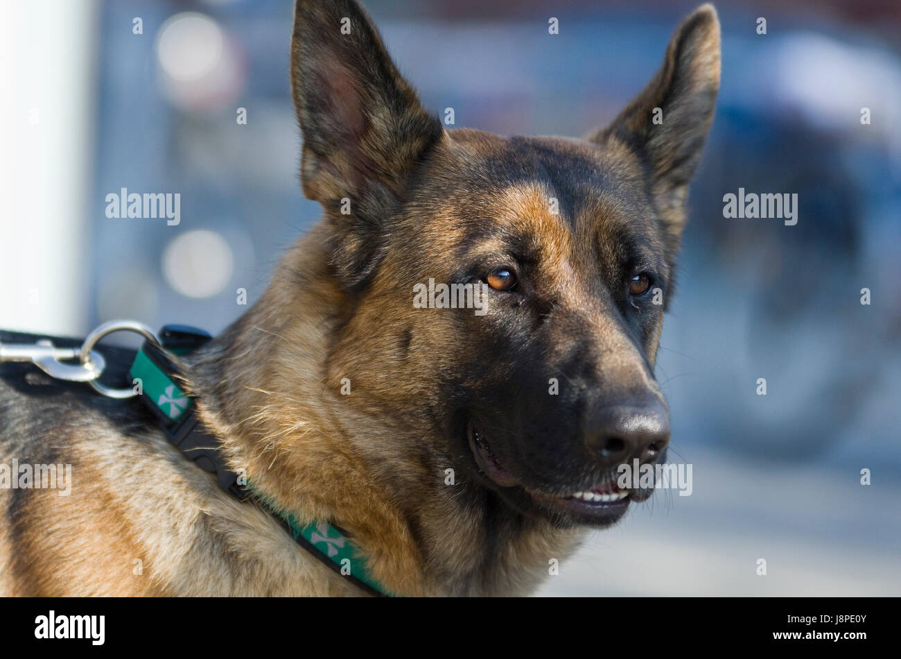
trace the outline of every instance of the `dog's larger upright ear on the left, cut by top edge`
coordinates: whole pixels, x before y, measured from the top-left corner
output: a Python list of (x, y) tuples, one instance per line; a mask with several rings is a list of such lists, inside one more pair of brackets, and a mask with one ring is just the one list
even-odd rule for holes
[(332, 224), (344, 283), (367, 279), (378, 233), (418, 160), (441, 137), (355, 0), (297, 0), (291, 88), (304, 133), (304, 194)]

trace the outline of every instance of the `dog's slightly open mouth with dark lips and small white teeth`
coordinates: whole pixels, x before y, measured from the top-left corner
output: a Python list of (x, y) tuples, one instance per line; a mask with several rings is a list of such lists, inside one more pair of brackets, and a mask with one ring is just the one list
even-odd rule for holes
[(632, 490), (619, 487), (615, 477), (608, 477), (591, 488), (563, 495), (555, 496), (531, 490), (505, 468), (496, 453), (491, 450), (485, 435), (471, 421), (466, 425), (466, 435), (478, 470), (487, 480), (500, 488), (518, 486), (536, 504), (552, 513), (566, 513), (587, 523), (612, 523), (623, 517), (626, 508), (629, 507)]

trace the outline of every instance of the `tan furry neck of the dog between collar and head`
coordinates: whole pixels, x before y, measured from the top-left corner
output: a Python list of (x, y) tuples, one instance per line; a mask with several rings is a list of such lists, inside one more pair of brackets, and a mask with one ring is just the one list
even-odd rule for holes
[[(461, 496), (443, 479), (449, 459), (405, 420), (348, 404), (328, 359), (352, 301), (329, 261), (314, 229), (259, 302), (192, 359), (201, 418), (278, 508), (348, 530), (388, 591), (529, 593), (578, 532), (523, 517), (472, 481)], [(365, 391), (352, 395), (365, 403)]]

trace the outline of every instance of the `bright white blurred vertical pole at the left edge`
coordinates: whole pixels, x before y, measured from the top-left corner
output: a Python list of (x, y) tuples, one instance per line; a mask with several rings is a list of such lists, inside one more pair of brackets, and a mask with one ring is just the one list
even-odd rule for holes
[(86, 331), (97, 7), (0, 2), (0, 329)]

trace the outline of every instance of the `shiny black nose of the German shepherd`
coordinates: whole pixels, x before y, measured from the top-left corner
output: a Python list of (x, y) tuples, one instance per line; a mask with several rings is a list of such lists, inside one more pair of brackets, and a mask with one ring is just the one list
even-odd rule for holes
[(605, 467), (639, 458), (656, 462), (669, 444), (669, 413), (657, 397), (596, 409), (586, 443)]

